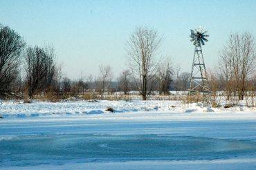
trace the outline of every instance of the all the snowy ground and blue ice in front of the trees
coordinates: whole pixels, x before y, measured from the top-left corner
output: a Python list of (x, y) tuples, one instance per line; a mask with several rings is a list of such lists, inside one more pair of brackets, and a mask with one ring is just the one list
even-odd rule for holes
[(256, 169), (243, 105), (9, 101), (0, 116), (0, 169)]

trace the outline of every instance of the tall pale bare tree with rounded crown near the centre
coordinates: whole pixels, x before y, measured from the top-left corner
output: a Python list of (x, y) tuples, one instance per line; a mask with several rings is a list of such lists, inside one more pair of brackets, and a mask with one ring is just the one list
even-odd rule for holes
[[(161, 38), (155, 30), (148, 28), (137, 28), (127, 41), (127, 54), (129, 56), (129, 67), (136, 79), (143, 100), (151, 92), (156, 74), (156, 55), (161, 44)], [(154, 84), (154, 83), (152, 83)]]

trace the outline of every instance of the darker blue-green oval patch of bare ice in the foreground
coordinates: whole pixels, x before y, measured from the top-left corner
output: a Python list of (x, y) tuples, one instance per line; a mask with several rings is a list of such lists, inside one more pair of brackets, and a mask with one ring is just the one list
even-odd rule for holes
[(255, 155), (256, 142), (172, 135), (22, 135), (0, 141), (2, 166)]

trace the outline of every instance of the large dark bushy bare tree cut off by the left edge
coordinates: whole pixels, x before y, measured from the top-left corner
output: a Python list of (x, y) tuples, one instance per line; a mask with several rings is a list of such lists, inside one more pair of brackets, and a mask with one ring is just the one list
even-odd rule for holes
[(10, 93), (19, 77), (24, 46), (24, 40), (15, 30), (0, 24), (0, 97)]

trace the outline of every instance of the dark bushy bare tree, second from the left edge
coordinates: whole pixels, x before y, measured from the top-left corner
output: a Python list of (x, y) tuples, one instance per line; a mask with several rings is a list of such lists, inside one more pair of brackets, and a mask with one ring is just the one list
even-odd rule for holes
[(46, 91), (53, 85), (55, 75), (55, 55), (52, 47), (28, 47), (25, 54), (26, 83), (28, 96)]

